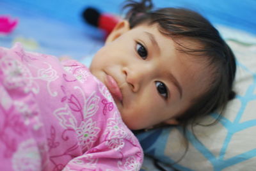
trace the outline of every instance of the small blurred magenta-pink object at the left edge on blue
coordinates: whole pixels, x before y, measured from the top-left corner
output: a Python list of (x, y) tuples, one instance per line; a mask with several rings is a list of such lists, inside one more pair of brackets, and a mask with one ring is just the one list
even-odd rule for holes
[(17, 26), (18, 20), (11, 20), (10, 17), (0, 16), (0, 34), (9, 34)]

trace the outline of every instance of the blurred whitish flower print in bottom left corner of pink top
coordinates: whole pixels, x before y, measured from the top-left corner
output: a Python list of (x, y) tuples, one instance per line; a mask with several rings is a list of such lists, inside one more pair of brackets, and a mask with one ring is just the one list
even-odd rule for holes
[(41, 170), (41, 157), (33, 139), (22, 142), (13, 154), (12, 165), (15, 171)]

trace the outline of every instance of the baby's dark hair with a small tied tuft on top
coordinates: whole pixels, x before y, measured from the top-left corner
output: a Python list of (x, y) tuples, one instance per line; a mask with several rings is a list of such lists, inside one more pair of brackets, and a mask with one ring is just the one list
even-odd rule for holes
[(221, 38), (219, 32), (212, 24), (195, 11), (185, 8), (161, 8), (152, 10), (150, 0), (141, 2), (127, 1), (124, 9), (128, 8), (126, 19), (130, 27), (140, 24), (158, 24), (162, 34), (170, 36), (173, 41), (177, 38), (189, 38), (199, 42), (200, 48), (190, 48), (175, 41), (184, 53), (195, 57), (204, 57), (207, 66), (211, 68), (211, 84), (204, 94), (193, 100), (193, 105), (182, 113), (177, 120), (184, 128), (196, 123), (197, 119), (211, 114), (227, 105), (228, 100), (234, 98), (232, 91), (234, 77), (236, 75), (235, 56), (227, 43)]

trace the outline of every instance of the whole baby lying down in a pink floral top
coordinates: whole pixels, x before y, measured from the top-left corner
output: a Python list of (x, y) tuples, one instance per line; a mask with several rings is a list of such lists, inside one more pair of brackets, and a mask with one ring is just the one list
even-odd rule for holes
[(234, 96), (234, 55), (201, 15), (125, 7), (90, 70), (0, 48), (0, 170), (140, 170), (131, 130), (186, 127)]

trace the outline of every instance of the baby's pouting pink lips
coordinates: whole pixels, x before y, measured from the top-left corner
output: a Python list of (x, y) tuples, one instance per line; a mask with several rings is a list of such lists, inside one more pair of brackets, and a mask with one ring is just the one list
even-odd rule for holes
[(123, 96), (121, 90), (118, 87), (116, 80), (110, 75), (106, 75), (106, 86), (108, 87), (108, 90), (112, 94), (113, 98), (116, 98), (122, 102)]

